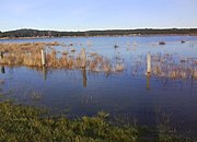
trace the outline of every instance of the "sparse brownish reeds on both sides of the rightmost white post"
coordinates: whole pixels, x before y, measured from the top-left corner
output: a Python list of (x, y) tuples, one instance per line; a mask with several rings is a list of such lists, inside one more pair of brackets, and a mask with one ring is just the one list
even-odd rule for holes
[[(146, 57), (139, 59), (131, 67), (132, 75), (141, 75), (147, 72)], [(172, 80), (178, 79), (197, 79), (197, 59), (185, 58), (177, 55), (155, 54), (151, 55), (151, 75), (166, 78)]]

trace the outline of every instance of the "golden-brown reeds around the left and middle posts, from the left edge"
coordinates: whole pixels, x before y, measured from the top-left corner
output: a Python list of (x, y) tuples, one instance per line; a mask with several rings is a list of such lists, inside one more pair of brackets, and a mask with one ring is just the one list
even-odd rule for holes
[[(47, 68), (80, 69), (83, 62), (81, 54), (69, 55), (68, 51), (58, 52), (50, 47), (58, 45), (58, 43), (0, 44), (0, 52), (3, 52), (3, 58), (0, 59), (0, 64), (40, 68), (40, 50), (49, 46), (49, 48), (46, 49), (45, 55)], [(71, 52), (72, 51), (76, 51), (76, 49), (72, 49)], [(124, 70), (123, 63), (113, 64), (109, 59), (104, 58), (96, 52), (90, 52), (85, 62), (85, 68), (90, 71), (104, 71), (108, 74), (109, 72), (120, 72)]]

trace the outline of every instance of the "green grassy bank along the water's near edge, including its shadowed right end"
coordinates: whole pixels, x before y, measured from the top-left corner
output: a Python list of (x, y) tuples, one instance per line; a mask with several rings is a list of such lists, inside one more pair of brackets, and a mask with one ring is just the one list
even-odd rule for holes
[(51, 116), (47, 109), (11, 100), (1, 100), (0, 110), (3, 114), (0, 141), (187, 142), (197, 139), (194, 132), (188, 135), (186, 131), (173, 131), (175, 128), (164, 121), (155, 127), (125, 121), (123, 126), (118, 120), (113, 121), (111, 114), (105, 111), (69, 119), (65, 115)]

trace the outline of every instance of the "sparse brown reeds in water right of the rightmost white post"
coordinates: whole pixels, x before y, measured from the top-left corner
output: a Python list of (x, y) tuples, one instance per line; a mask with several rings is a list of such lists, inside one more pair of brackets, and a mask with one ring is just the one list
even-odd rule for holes
[(197, 79), (195, 59), (173, 57), (172, 55), (157, 55), (152, 59), (152, 73), (157, 76), (171, 79)]

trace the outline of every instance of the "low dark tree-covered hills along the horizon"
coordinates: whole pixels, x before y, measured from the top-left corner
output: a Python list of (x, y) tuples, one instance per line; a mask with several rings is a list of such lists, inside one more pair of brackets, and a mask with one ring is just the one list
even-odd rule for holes
[(119, 36), (119, 35), (197, 35), (197, 28), (141, 28), (141, 29), (106, 29), (86, 32), (58, 32), (38, 29), (16, 29), (0, 32), (0, 38), (20, 37), (62, 37), (62, 36)]

